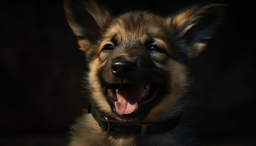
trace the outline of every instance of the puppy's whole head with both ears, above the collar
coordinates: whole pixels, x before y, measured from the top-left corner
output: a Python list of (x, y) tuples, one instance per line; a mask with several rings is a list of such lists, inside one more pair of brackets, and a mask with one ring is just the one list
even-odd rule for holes
[(224, 6), (190, 7), (166, 18), (146, 11), (113, 17), (94, 0), (66, 0), (67, 21), (85, 52), (90, 100), (125, 124), (180, 114), (189, 65), (207, 45)]

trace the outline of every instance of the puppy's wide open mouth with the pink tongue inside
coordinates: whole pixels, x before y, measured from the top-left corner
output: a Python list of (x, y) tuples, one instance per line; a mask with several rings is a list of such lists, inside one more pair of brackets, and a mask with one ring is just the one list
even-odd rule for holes
[(159, 92), (159, 84), (115, 84), (108, 88), (115, 113), (120, 116), (132, 116), (144, 110), (144, 105)]

